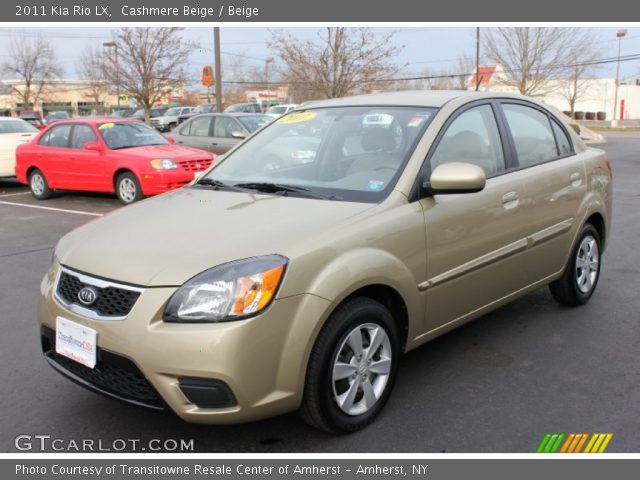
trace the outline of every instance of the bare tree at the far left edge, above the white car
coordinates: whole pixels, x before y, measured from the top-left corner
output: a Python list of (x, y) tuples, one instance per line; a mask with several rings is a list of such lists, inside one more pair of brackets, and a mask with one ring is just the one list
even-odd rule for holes
[(20, 80), (20, 84), (10, 88), (25, 108), (35, 106), (51, 81), (62, 72), (51, 44), (40, 36), (12, 40), (10, 57), (1, 70), (9, 79)]

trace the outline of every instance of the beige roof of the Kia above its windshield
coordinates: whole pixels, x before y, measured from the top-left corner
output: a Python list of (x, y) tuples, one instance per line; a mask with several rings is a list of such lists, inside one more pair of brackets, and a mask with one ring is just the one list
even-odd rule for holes
[[(402, 92), (382, 92), (353, 97), (333, 98), (329, 100), (314, 100), (305, 108), (342, 107), (358, 105), (393, 105), (411, 107), (440, 108), (444, 104), (464, 97), (469, 101), (482, 98), (526, 98), (522, 95), (506, 92), (474, 92), (468, 90), (407, 90)], [(300, 108), (300, 106), (298, 106)]]

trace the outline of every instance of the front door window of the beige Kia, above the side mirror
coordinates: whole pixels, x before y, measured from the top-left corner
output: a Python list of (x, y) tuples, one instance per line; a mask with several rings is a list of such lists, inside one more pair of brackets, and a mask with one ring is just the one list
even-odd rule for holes
[(477, 165), (487, 176), (505, 169), (500, 133), (491, 105), (470, 108), (447, 127), (431, 156), (431, 169), (451, 162)]

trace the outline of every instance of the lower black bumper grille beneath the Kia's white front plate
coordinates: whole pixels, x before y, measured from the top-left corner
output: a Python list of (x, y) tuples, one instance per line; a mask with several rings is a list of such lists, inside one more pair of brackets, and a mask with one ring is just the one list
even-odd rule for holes
[(55, 348), (55, 333), (42, 327), (42, 350), (47, 361), (61, 374), (76, 383), (128, 403), (161, 410), (164, 403), (133, 361), (104, 349), (98, 349), (94, 368), (71, 360)]

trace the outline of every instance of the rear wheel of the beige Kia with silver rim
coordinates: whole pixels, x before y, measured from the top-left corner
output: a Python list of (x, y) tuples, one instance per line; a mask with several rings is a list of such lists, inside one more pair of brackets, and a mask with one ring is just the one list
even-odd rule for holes
[(562, 277), (549, 284), (551, 295), (562, 305), (583, 305), (598, 285), (601, 264), (600, 234), (586, 223), (576, 241)]

